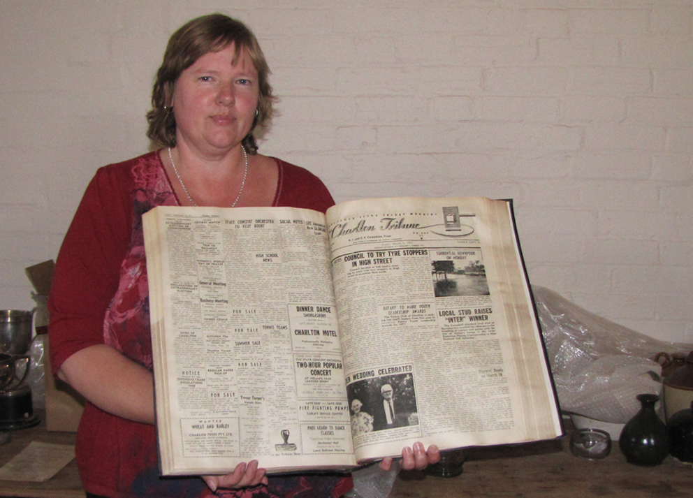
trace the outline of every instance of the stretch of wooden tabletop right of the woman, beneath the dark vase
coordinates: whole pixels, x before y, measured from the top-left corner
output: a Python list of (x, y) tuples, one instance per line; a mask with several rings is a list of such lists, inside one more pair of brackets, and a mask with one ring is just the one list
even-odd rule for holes
[(690, 464), (667, 457), (657, 467), (638, 467), (626, 462), (618, 441), (603, 460), (586, 460), (571, 455), (568, 442), (470, 449), (460, 476), (401, 472), (390, 497), (693, 497)]

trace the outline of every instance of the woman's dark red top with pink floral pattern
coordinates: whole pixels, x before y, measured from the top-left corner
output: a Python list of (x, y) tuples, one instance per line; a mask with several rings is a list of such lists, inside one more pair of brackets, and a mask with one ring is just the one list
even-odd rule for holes
[[(276, 161), (279, 182), (272, 205), (325, 212), (334, 204), (318, 177)], [(152, 369), (142, 215), (157, 205), (179, 204), (158, 152), (96, 172), (57, 258), (49, 299), (54, 372), (94, 344), (108, 344)], [(114, 498), (212, 496), (198, 477), (159, 477), (154, 426), (92, 404), (82, 415), (75, 450), (87, 492)], [(351, 478), (340, 476), (271, 477), (267, 488), (216, 496), (336, 498), (349, 488)]]

